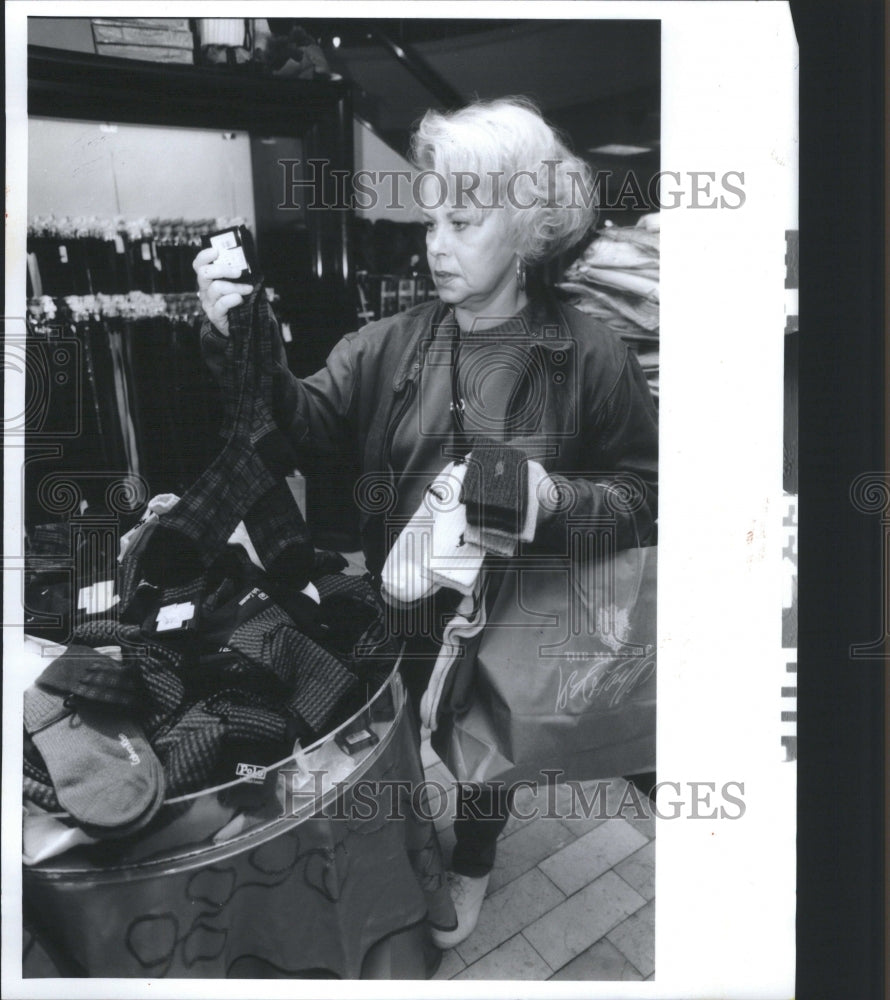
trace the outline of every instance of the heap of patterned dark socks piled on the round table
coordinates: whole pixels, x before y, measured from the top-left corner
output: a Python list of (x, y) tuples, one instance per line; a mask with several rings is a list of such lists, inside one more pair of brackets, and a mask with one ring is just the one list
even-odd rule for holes
[(147, 616), (131, 603), (139, 621), (78, 626), (25, 695), (26, 800), (91, 837), (129, 836), (165, 799), (280, 760), (360, 709), (397, 650), (368, 580), (331, 564), (322, 554), (295, 590), (231, 546), (172, 617), (161, 591)]

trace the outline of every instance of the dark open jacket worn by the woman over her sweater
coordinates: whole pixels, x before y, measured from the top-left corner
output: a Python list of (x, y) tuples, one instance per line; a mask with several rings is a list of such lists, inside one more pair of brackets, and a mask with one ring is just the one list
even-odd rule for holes
[[(370, 323), (343, 337), (325, 367), (304, 379), (287, 370), (276, 334), (277, 421), (298, 451), (358, 454), (363, 475), (356, 497), (373, 573), (386, 557), (385, 518), (396, 506), (395, 483), (414, 471), (393, 468), (393, 433), (417, 406), (430, 345), (453, 330), (450, 317), (442, 303), (428, 302)], [(518, 414), (509, 421), (508, 441), (544, 466), (558, 494), (539, 521), (534, 546), (568, 554), (567, 532), (583, 523), (614, 525), (618, 548), (651, 542), (657, 414), (635, 356), (602, 324), (550, 297), (535, 301), (512, 323), (506, 328), (511, 342), (524, 345), (529, 363), (508, 407), (508, 414)], [(202, 347), (214, 374), (224, 343), (205, 322)], [(431, 477), (442, 468), (437, 442), (430, 442), (420, 464), (424, 468), (416, 471)]]

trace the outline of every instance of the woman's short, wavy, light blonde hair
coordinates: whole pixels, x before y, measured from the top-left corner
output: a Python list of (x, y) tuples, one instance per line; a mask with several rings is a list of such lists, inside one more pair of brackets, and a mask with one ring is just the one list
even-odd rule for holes
[[(529, 264), (568, 250), (593, 226), (590, 167), (525, 97), (428, 111), (412, 136), (411, 160), (436, 174), (452, 195), (465, 195), (465, 207), (508, 211), (516, 251)], [(478, 178), (480, 194), (455, 184), (462, 173)]]

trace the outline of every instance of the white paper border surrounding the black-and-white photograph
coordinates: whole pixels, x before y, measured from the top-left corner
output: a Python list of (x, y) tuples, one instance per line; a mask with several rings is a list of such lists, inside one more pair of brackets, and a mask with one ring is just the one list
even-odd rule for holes
[[(108, 5), (6, 5), (6, 316), (25, 314), (26, 18)], [(293, 16), (292, 3), (251, 14)], [(116, 3), (127, 16), (211, 16), (242, 3)], [(361, 2), (312, 16), (366, 17)], [(472, 13), (471, 13), (472, 11)], [(375, 17), (615, 18), (662, 23), (661, 167), (687, 204), (662, 213), (658, 777), (687, 814), (658, 821), (656, 973), (651, 983), (487, 983), (491, 997), (786, 997), (794, 992), (796, 768), (781, 747), (782, 406), (785, 232), (796, 229), (797, 46), (785, 3), (427, 2)], [(550, 54), (558, 57), (557, 54)], [(689, 175), (743, 177), (735, 208), (688, 206)], [(718, 192), (719, 194), (719, 192)], [(7, 334), (15, 333), (7, 318)], [(6, 419), (21, 373), (5, 366)], [(18, 409), (17, 409), (18, 407)], [(20, 449), (4, 449), (4, 569), (21, 548)], [(8, 582), (8, 577), (7, 577)], [(55, 997), (22, 980), (21, 655), (17, 586), (4, 587), (3, 995)], [(692, 819), (690, 785), (744, 785), (739, 819)], [(704, 812), (705, 807), (700, 811)], [(287, 997), (291, 982), (264, 981)], [(477, 984), (313, 981), (313, 996), (464, 996)], [(252, 997), (251, 981), (66, 980), (66, 996)]]

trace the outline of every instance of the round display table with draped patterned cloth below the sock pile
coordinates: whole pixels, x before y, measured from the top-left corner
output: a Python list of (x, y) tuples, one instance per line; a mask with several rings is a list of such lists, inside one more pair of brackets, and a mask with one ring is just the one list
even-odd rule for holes
[[(373, 746), (340, 749), (363, 729)], [(70, 963), (62, 975), (426, 978), (440, 954), (428, 923), (454, 915), (433, 824), (412, 809), (422, 783), (396, 665), (361, 713), (261, 783), (170, 800), (142, 837), (26, 867), (26, 919)]]

